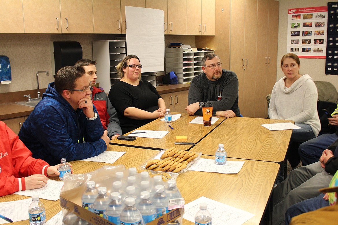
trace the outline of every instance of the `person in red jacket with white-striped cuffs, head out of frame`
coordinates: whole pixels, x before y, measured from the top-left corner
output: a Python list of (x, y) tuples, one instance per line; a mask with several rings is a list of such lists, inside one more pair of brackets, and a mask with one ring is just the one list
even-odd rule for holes
[(48, 176), (60, 174), (59, 165), (49, 166), (41, 159), (32, 158), (32, 152), (2, 121), (0, 137), (0, 196), (44, 187)]

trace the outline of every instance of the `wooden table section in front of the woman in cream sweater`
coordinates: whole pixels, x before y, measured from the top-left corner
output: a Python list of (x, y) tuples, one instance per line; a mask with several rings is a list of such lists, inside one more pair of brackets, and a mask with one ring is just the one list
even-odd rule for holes
[(281, 122), (293, 123), (279, 119), (227, 118), (191, 150), (214, 156), (216, 146), (222, 143), (230, 158), (281, 162), (285, 158), (292, 130), (270, 131), (261, 126)]

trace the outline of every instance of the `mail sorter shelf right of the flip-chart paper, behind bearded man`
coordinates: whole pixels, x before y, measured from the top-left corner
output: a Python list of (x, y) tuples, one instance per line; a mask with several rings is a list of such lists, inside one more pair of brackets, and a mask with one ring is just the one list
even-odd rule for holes
[(165, 69), (166, 74), (174, 71), (178, 83), (188, 83), (202, 73), (201, 60), (204, 55), (214, 51), (183, 51), (183, 48), (165, 48)]

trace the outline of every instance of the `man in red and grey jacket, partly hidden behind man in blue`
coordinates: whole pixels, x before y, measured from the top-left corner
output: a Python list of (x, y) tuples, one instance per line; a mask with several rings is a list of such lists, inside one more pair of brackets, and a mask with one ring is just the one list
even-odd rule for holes
[(75, 63), (74, 66), (82, 66), (84, 68), (84, 71), (86, 72), (86, 75), (92, 82), (92, 102), (97, 109), (103, 129), (108, 130), (108, 137), (113, 140), (122, 135), (120, 121), (117, 118), (117, 113), (114, 106), (108, 99), (108, 95), (104, 93), (103, 90), (94, 87), (97, 78), (95, 65), (95, 60), (93, 61), (90, 59), (80, 59)]

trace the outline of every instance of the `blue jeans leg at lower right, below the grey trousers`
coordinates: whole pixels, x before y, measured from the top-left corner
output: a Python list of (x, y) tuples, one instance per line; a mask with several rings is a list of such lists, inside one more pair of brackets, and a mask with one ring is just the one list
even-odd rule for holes
[(285, 213), (285, 224), (289, 225), (292, 217), (329, 206), (329, 201), (324, 200), (323, 197), (324, 194), (320, 194), (318, 197), (310, 198), (290, 206), (290, 208), (288, 208)]

